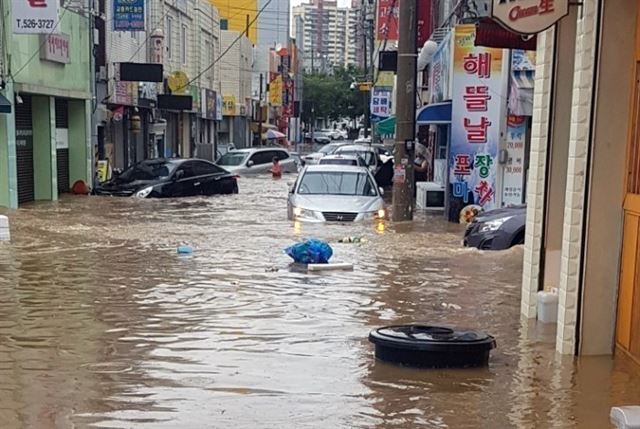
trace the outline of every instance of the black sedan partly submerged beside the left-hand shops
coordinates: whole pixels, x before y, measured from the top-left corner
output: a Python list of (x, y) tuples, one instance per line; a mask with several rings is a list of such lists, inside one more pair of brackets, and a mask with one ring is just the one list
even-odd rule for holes
[(96, 195), (172, 198), (237, 194), (237, 176), (202, 159), (147, 159), (94, 190)]

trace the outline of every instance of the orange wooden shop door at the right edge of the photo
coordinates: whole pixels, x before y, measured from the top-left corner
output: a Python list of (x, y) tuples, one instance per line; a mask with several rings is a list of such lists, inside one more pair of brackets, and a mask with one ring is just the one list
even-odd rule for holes
[(638, 33), (627, 150), (616, 346), (640, 363), (640, 31)]

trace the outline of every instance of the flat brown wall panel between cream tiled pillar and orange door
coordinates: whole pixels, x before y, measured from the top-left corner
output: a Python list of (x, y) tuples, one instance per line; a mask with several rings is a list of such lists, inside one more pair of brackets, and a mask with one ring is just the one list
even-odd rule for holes
[(617, 317), (624, 182), (633, 97), (636, 1), (602, 10), (597, 106), (592, 136), (579, 353), (611, 354)]

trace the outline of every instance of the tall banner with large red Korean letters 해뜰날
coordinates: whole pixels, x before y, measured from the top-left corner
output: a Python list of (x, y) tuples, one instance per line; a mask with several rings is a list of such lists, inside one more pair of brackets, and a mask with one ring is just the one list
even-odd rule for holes
[(475, 26), (454, 35), (453, 97), (449, 156), (449, 219), (468, 205), (496, 207), (496, 171), (503, 104), (502, 49), (474, 46)]

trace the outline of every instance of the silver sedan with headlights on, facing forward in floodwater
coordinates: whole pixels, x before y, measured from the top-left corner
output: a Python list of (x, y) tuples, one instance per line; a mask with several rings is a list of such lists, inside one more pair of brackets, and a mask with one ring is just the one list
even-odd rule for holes
[(289, 191), (288, 217), (304, 222), (383, 220), (382, 193), (366, 167), (310, 165)]

